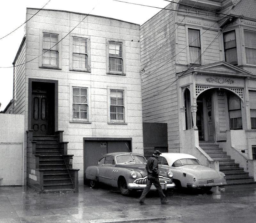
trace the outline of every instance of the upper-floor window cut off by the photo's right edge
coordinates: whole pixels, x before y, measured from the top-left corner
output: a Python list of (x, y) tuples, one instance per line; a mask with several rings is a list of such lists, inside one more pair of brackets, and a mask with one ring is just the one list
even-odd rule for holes
[(244, 30), (244, 44), (247, 64), (256, 64), (256, 32)]

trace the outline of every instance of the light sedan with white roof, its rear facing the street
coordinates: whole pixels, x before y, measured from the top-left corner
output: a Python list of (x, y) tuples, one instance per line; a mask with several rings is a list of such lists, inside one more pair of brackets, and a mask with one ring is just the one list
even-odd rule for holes
[(227, 184), (224, 173), (203, 166), (196, 157), (189, 154), (163, 152), (158, 165), (171, 168), (176, 188), (201, 188), (209, 191), (213, 186)]

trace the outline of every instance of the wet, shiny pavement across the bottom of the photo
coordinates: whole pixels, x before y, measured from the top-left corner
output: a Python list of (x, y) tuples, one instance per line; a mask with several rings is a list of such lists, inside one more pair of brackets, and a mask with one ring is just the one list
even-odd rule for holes
[(81, 185), (78, 193), (38, 194), (28, 187), (0, 188), (0, 223), (57, 222), (162, 222), (256, 223), (256, 184), (201, 190), (172, 190), (161, 205), (155, 191), (146, 205), (138, 204), (141, 192), (124, 197), (118, 189)]

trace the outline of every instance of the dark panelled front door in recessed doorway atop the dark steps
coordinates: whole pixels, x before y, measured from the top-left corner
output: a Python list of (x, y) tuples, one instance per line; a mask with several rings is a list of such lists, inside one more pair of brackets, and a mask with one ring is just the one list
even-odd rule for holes
[(52, 135), (54, 129), (54, 95), (51, 85), (35, 82), (32, 85), (31, 127), (34, 135)]

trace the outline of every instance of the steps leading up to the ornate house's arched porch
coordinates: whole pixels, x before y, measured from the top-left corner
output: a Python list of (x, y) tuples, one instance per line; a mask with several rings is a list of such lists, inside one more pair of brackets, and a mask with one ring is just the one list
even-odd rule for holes
[(220, 171), (226, 175), (227, 185), (256, 183), (244, 168), (239, 167), (223, 149), (211, 142), (200, 142), (199, 146), (215, 161), (219, 161)]

